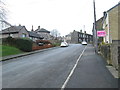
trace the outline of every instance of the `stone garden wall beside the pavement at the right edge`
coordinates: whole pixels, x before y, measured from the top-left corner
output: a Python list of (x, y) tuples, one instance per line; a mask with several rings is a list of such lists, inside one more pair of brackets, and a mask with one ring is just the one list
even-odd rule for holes
[(118, 62), (120, 63), (120, 40), (113, 40), (110, 45), (101, 45), (100, 52), (107, 63), (118, 70)]

